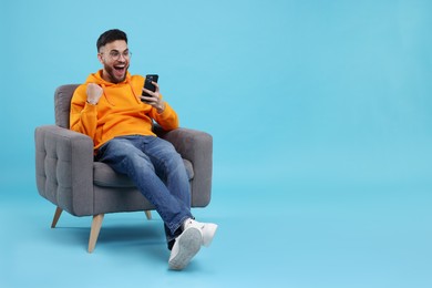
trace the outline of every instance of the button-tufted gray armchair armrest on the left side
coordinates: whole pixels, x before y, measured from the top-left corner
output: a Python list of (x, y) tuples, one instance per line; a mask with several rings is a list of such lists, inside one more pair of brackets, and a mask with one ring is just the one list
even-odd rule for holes
[(93, 141), (55, 125), (34, 131), (39, 194), (75, 216), (93, 214)]

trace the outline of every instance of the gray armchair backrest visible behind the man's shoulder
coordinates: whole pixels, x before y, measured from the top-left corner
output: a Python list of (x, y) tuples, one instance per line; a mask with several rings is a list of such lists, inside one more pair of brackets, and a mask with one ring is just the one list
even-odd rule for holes
[(55, 125), (69, 128), (71, 100), (79, 84), (59, 86), (54, 93)]

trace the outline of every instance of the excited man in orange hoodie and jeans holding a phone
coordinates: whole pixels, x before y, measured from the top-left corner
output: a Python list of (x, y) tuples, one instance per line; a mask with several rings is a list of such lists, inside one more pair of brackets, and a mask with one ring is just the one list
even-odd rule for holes
[(210, 244), (217, 225), (194, 219), (183, 160), (152, 132), (153, 121), (166, 131), (177, 128), (177, 114), (162, 99), (157, 83), (152, 82), (153, 92), (144, 89), (143, 76), (128, 73), (131, 52), (123, 31), (104, 32), (96, 47), (103, 69), (74, 92), (71, 130), (92, 137), (95, 160), (128, 175), (155, 206), (172, 250), (169, 268), (183, 269), (202, 245)]

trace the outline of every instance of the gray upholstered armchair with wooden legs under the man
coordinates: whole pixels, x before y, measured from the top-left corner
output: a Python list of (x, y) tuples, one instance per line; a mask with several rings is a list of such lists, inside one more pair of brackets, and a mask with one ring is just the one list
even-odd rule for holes
[[(39, 194), (56, 206), (52, 228), (63, 210), (74, 216), (93, 216), (89, 239), (89, 253), (92, 253), (104, 214), (144, 210), (150, 219), (154, 206), (127, 176), (93, 161), (92, 138), (69, 130), (71, 99), (76, 88), (70, 84), (55, 90), (55, 125), (34, 131), (35, 176)], [(173, 143), (184, 158), (192, 207), (207, 206), (212, 193), (212, 136), (183, 127), (165, 132), (155, 126), (155, 132)]]

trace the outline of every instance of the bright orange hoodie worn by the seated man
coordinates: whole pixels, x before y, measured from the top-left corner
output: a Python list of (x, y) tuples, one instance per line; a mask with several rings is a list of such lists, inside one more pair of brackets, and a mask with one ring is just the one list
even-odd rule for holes
[[(103, 89), (96, 105), (86, 103), (86, 84), (96, 83)], [(90, 74), (85, 84), (80, 85), (72, 96), (70, 125), (71, 130), (93, 138), (94, 148), (105, 142), (124, 135), (153, 135), (153, 120), (164, 130), (178, 127), (175, 111), (165, 102), (161, 114), (156, 109), (145, 104), (140, 96), (144, 78), (126, 74), (125, 81), (114, 84), (102, 79), (102, 70)]]

